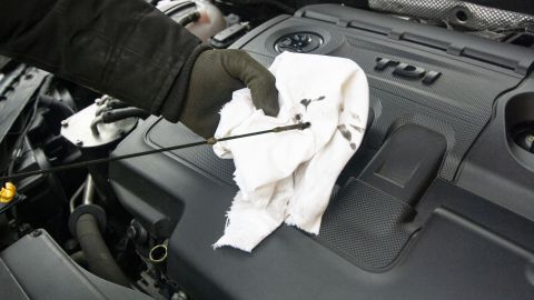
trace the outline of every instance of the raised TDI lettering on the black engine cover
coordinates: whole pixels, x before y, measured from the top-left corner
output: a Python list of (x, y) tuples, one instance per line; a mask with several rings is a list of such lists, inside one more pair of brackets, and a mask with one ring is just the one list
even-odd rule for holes
[(387, 58), (376, 58), (375, 70), (384, 71), (389, 67), (395, 67), (393, 70), (394, 76), (399, 76), (407, 79), (421, 79), (425, 84), (434, 83), (439, 76), (442, 76), (441, 72), (427, 71), (421, 67), (407, 64), (405, 62), (390, 60)]

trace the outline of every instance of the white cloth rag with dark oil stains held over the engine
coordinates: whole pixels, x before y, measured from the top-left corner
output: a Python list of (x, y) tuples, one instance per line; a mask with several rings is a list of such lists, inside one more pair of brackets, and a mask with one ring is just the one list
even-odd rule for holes
[(335, 181), (364, 137), (368, 86), (354, 61), (284, 52), (269, 70), (279, 92), (278, 117), (256, 109), (248, 89), (237, 90), (220, 111), (215, 137), (296, 122), (312, 127), (214, 146), (217, 156), (234, 159), (239, 187), (215, 248), (250, 252), (283, 222), (318, 234)]

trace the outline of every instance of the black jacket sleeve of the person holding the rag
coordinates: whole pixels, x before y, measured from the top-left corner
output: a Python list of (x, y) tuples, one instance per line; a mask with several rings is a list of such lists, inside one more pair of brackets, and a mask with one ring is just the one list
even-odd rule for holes
[(206, 49), (142, 0), (0, 0), (0, 53), (177, 121)]

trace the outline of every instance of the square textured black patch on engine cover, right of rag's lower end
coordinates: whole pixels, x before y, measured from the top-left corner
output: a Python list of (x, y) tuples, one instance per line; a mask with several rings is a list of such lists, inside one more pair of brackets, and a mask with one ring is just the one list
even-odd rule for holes
[(323, 217), (318, 239), (365, 269), (386, 268), (413, 230), (406, 221), (414, 210), (357, 179), (336, 192)]

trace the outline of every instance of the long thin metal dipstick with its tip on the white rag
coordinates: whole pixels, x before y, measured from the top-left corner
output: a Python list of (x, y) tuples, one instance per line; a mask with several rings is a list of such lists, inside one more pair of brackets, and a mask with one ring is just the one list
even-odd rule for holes
[(172, 151), (172, 150), (178, 150), (178, 149), (186, 149), (186, 148), (191, 148), (191, 147), (197, 147), (197, 146), (202, 146), (202, 144), (216, 144), (216, 143), (221, 142), (221, 141), (243, 139), (243, 138), (255, 137), (255, 136), (260, 136), (260, 134), (266, 134), (266, 133), (278, 133), (278, 132), (284, 132), (284, 131), (289, 131), (289, 130), (304, 130), (306, 128), (309, 128), (310, 126), (312, 126), (310, 122), (305, 122), (305, 123), (297, 123), (297, 124), (290, 124), (290, 126), (280, 126), (280, 127), (275, 127), (275, 128), (269, 129), (269, 130), (237, 134), (237, 136), (231, 136), (231, 137), (226, 137), (226, 138), (220, 138), (220, 139), (209, 138), (207, 140), (202, 140), (202, 141), (198, 141), (198, 142), (177, 144), (177, 146), (171, 146), (171, 147), (166, 147), (166, 148), (160, 148), (160, 149), (155, 149), (155, 150), (148, 150), (148, 151), (137, 152), (137, 153), (130, 153), (130, 154), (125, 154), (125, 156), (117, 156), (117, 157), (111, 157), (111, 158), (101, 158), (101, 159), (95, 159), (95, 160), (80, 161), (80, 162), (63, 164), (63, 166), (49, 168), (49, 169), (41, 169), (41, 170), (37, 170), (37, 171), (29, 171), (29, 172), (21, 172), (21, 173), (16, 173), (16, 174), (11, 174), (11, 176), (4, 176), (4, 177), (0, 177), (0, 180), (3, 182), (3, 181), (7, 181), (7, 180), (22, 179), (22, 178), (27, 178), (27, 177), (31, 177), (31, 176), (37, 176), (37, 174), (46, 174), (46, 173), (67, 171), (67, 170), (85, 168), (85, 167), (93, 166), (93, 164), (100, 164), (100, 163), (107, 163), (107, 162), (111, 162), (111, 161), (118, 161), (118, 160), (123, 160), (123, 159), (130, 159), (130, 158), (137, 158), (137, 157), (142, 157), (142, 156), (155, 154), (155, 153), (161, 153), (161, 152), (167, 152), (167, 151)]

